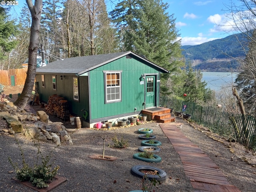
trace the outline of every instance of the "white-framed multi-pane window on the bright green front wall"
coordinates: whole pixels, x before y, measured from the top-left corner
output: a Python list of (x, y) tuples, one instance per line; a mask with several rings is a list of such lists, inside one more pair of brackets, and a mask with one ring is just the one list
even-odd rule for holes
[(104, 71), (105, 103), (121, 102), (122, 71)]

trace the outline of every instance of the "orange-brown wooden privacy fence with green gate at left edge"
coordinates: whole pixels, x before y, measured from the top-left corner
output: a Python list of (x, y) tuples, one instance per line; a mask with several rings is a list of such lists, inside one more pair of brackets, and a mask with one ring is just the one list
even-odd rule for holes
[(24, 85), (28, 68), (0, 70), (0, 84), (6, 86)]

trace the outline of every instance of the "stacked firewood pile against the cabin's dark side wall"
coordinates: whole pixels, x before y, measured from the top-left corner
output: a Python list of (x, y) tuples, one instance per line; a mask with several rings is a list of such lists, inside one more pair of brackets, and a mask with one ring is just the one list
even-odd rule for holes
[(69, 118), (69, 106), (68, 101), (57, 94), (52, 95), (48, 98), (48, 102), (45, 106), (46, 113), (57, 116), (61, 119)]

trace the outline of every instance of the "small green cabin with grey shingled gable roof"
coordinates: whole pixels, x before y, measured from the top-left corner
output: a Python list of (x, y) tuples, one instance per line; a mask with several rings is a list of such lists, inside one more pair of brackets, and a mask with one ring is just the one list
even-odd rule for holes
[(127, 51), (51, 62), (36, 69), (36, 82), (40, 102), (64, 97), (70, 114), (93, 127), (158, 107), (161, 73), (168, 70)]

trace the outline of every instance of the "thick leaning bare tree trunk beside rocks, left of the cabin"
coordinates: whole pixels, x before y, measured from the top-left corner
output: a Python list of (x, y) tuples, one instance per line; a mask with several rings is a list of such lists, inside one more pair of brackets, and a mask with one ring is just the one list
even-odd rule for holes
[(38, 38), (42, 13), (42, 0), (35, 0), (35, 5), (33, 5), (32, 0), (26, 0), (26, 3), (32, 17), (32, 24), (30, 27), (30, 42), (28, 47), (28, 72), (22, 93), (14, 103), (21, 109), (24, 109), (28, 103), (35, 82), (36, 58), (39, 46)]

